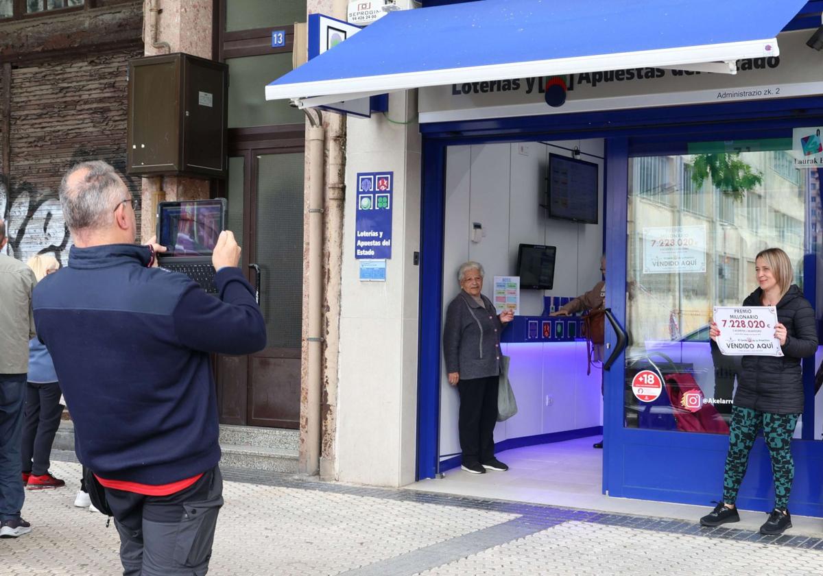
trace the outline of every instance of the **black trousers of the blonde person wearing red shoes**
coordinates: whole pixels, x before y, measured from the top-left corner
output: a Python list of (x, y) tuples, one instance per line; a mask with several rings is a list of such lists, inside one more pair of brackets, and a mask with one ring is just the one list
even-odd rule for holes
[(56, 382), (26, 383), (21, 459), (23, 471), (43, 476), (49, 471), (49, 454), (60, 426), (60, 385)]

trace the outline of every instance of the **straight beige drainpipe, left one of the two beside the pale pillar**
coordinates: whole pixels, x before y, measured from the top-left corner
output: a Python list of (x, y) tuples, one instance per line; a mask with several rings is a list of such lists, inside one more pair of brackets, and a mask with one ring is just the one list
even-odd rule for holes
[(320, 401), (323, 379), (323, 116), (314, 110), (317, 119), (305, 110), (310, 128), (306, 131), (309, 151), (309, 329), (306, 343), (308, 380), (305, 415), (305, 470), (310, 476), (320, 470)]

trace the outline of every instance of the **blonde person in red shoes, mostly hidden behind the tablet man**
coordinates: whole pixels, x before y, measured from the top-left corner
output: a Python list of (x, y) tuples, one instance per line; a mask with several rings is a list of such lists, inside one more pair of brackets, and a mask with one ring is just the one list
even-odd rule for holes
[[(38, 282), (60, 269), (60, 262), (49, 253), (32, 256), (27, 263)], [(26, 490), (60, 488), (66, 485), (66, 482), (49, 472), (49, 455), (62, 414), (60, 385), (51, 356), (43, 342), (34, 337), (29, 341), (29, 376), (21, 445)]]

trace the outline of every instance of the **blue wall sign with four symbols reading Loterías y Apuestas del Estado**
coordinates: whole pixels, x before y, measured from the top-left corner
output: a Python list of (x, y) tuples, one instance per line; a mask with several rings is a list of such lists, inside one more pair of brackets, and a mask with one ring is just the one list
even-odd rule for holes
[(392, 258), (393, 172), (357, 173), (355, 258)]

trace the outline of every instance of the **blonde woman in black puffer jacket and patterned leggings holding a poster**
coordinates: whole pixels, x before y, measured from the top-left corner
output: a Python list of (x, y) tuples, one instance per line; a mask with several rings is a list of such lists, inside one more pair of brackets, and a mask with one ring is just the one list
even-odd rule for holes
[[(755, 436), (762, 427), (774, 474), (774, 509), (760, 527), (760, 533), (780, 534), (792, 527), (788, 513), (794, 477), (791, 443), (797, 417), (803, 411), (800, 359), (817, 350), (817, 330), (814, 309), (803, 298), (800, 288), (791, 284), (792, 262), (783, 250), (770, 248), (757, 254), (755, 274), (760, 287), (743, 305), (777, 307), (774, 337), (780, 342), (783, 356), (742, 357), (723, 473), (723, 501), (700, 518), (700, 523), (718, 526), (740, 520), (735, 507), (737, 490), (746, 474)], [(717, 324), (711, 323), (709, 336), (716, 340), (719, 335)]]

